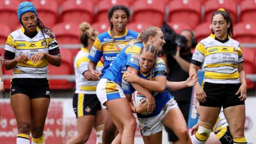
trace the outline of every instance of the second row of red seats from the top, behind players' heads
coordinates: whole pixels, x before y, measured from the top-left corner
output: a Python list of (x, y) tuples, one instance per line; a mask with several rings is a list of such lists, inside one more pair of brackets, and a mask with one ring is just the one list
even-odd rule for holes
[[(169, 22), (176, 33), (183, 29), (190, 29), (190, 25), (182, 22)], [(147, 22), (130, 22), (127, 24), (127, 29), (131, 29), (140, 33), (145, 27), (151, 26)], [(19, 26), (20, 27), (20, 26)], [(109, 22), (96, 22), (92, 23), (92, 27), (102, 33), (109, 29)], [(18, 28), (18, 27), (17, 27)], [(52, 28), (53, 33), (57, 37), (59, 44), (80, 44), (79, 24), (74, 22), (61, 22), (54, 25)], [(196, 26), (194, 29), (197, 42), (209, 36), (211, 33), (211, 23), (204, 22)], [(7, 36), (11, 33), (9, 26), (0, 23), (0, 44), (5, 44)], [(234, 25), (234, 39), (240, 43), (256, 43), (256, 22), (239, 22)], [(248, 47), (248, 46), (247, 46)]]

